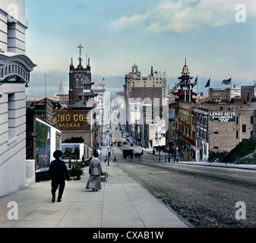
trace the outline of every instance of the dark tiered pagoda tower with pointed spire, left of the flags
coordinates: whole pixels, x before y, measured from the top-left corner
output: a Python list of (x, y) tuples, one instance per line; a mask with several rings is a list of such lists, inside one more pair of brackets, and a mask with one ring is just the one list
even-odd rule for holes
[(196, 96), (197, 93), (193, 92), (193, 87), (196, 85), (197, 80), (192, 84), (191, 81), (194, 79), (194, 77), (191, 77), (189, 74), (187, 60), (185, 58), (182, 76), (178, 77), (179, 83), (175, 84), (172, 92), (175, 95), (176, 101), (195, 102), (193, 96)]

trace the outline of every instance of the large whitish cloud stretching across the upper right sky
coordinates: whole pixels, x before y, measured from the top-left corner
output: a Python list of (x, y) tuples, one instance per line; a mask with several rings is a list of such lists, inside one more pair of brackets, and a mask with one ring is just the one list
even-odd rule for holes
[(166, 0), (150, 10), (141, 9), (140, 14), (122, 16), (112, 26), (122, 29), (143, 25), (154, 33), (187, 33), (201, 27), (235, 23), (238, 4), (245, 5), (247, 17), (256, 14), (256, 3), (250, 0)]

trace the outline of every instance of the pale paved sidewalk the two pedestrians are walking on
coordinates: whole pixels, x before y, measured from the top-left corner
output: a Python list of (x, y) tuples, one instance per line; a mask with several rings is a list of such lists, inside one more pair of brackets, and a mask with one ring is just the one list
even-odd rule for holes
[[(189, 228), (160, 200), (110, 163), (102, 190), (85, 190), (89, 177), (67, 181), (62, 202), (52, 203), (51, 182), (40, 182), (0, 197), (0, 228)], [(9, 202), (16, 202), (18, 219), (8, 219)]]

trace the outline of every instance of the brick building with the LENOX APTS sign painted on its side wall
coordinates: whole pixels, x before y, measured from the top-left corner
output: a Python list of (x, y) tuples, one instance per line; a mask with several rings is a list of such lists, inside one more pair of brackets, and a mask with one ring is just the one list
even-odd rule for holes
[(194, 109), (197, 116), (196, 160), (209, 154), (229, 153), (242, 140), (256, 136), (256, 103), (204, 103)]

